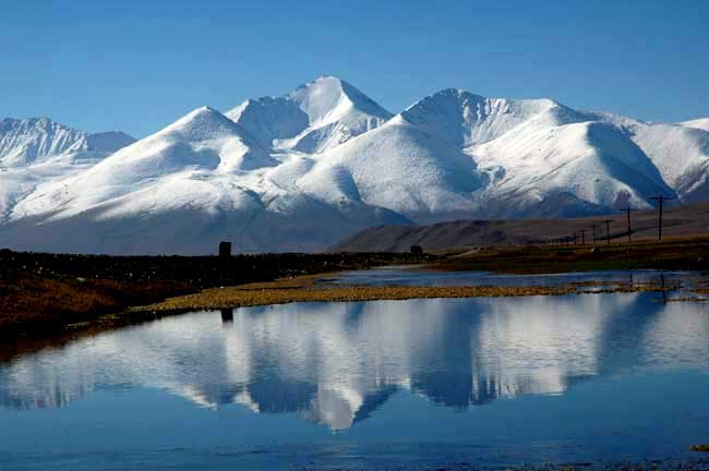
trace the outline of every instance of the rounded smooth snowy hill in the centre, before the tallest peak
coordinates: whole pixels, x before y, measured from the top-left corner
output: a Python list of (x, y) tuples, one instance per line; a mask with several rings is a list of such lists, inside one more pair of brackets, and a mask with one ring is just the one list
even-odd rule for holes
[(298, 185), (416, 218), (474, 209), (481, 179), (470, 157), (396, 117), (323, 154)]

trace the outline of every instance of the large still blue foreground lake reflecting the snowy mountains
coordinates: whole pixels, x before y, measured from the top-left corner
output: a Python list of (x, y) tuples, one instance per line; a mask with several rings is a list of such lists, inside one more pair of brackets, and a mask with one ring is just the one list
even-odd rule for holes
[(657, 293), (199, 312), (0, 364), (0, 469), (692, 459), (709, 303)]

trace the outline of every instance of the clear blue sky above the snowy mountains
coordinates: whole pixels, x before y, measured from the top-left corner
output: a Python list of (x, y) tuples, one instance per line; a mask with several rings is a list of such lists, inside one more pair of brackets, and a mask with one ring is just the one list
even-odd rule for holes
[(709, 117), (709, 1), (0, 0), (0, 118), (142, 137), (323, 74), (393, 112), (459, 87)]

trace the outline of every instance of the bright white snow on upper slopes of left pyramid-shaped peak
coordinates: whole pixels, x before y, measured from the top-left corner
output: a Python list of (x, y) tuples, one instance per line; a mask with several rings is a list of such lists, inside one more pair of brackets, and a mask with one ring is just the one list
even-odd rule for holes
[[(165, 191), (176, 174), (189, 178), (253, 170), (276, 165), (248, 134), (224, 114), (199, 108), (164, 130), (120, 149), (87, 171), (60, 180), (17, 204), (13, 218), (55, 213), (67, 217), (131, 194), (139, 202), (117, 201), (130, 214), (190, 204), (192, 186)], [(163, 185), (163, 189), (156, 189)], [(153, 191), (148, 191), (153, 188)], [(185, 201), (180, 198), (187, 195)], [(161, 198), (161, 200), (160, 200)], [(164, 204), (161, 204), (164, 203)]]

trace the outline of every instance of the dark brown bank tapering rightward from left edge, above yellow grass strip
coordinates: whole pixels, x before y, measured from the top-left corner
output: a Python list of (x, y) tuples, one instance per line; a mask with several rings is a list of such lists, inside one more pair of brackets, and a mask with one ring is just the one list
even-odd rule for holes
[(432, 259), (409, 254), (265, 254), (221, 261), (0, 251), (0, 336), (57, 333), (70, 324), (213, 287)]

